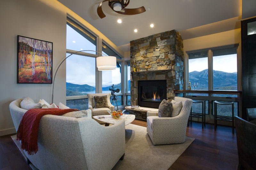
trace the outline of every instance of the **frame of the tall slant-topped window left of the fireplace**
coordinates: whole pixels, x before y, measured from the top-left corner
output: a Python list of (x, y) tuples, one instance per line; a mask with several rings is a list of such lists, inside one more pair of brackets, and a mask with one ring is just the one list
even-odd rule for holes
[[(123, 105), (124, 106), (126, 100), (125, 100), (125, 96), (124, 96), (124, 88), (125, 88), (125, 62), (124, 62), (124, 56), (120, 53), (118, 53), (112, 46), (110, 46), (106, 41), (102, 40), (102, 37), (97, 35), (96, 33), (94, 33), (92, 30), (90, 30), (88, 27), (86, 27), (85, 25), (81, 24), (79, 21), (77, 21), (75, 18), (73, 18), (72, 16), (67, 14), (67, 18), (70, 18), (71, 20), (73, 20), (74, 22), (76, 22), (78, 25), (80, 25), (82, 28), (84, 28), (86, 31), (90, 32), (92, 35), (94, 35), (96, 37), (96, 51), (102, 52), (102, 42), (107, 45), (111, 50), (113, 50), (117, 55), (119, 55), (122, 59), (117, 59), (116, 61), (119, 61), (122, 63), (121, 65), (121, 85), (122, 85), (122, 89), (121, 89), (121, 93), (116, 94), (116, 96), (123, 96)], [(77, 51), (75, 50), (71, 50), (71, 49), (66, 49), (66, 53), (75, 53)], [(101, 53), (96, 53), (96, 54), (91, 54), (91, 53), (86, 53), (86, 52), (78, 52), (76, 53), (77, 55), (83, 55), (83, 56), (87, 56), (87, 57), (99, 57), (102, 56)], [(99, 71), (98, 68), (96, 67), (96, 62), (95, 62), (95, 93), (102, 93), (102, 71)], [(126, 82), (127, 83), (127, 82)], [(66, 100), (77, 100), (77, 99), (88, 99), (87, 95), (82, 95), (82, 96), (66, 96)]]

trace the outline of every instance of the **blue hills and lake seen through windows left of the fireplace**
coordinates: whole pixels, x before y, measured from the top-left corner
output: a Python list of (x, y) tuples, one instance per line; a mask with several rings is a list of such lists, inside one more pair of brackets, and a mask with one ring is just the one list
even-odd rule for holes
[[(128, 81), (128, 91), (131, 89), (130, 87), (130, 80)], [(111, 86), (102, 87), (102, 92), (109, 92)], [(114, 87), (121, 90), (121, 83), (114, 84)], [(79, 84), (72, 84), (66, 82), (66, 91), (67, 96), (78, 96), (78, 95), (86, 95), (87, 93), (95, 93), (95, 87), (89, 86), (87, 84), (79, 85)]]

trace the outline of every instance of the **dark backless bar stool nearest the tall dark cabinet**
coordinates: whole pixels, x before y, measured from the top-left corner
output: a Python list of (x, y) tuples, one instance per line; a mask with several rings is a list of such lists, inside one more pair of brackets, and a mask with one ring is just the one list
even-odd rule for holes
[[(229, 116), (218, 116), (217, 115), (217, 105), (232, 105), (232, 117)], [(214, 101), (214, 131), (217, 129), (217, 120), (223, 121), (232, 121), (232, 133), (234, 133), (234, 102), (223, 102), (223, 101)]]

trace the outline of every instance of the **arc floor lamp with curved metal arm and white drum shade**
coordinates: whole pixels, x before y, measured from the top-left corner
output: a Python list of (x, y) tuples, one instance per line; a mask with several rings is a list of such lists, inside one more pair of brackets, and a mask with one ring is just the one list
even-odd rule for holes
[[(68, 57), (70, 57), (73, 54), (79, 53), (79, 52), (84, 52), (84, 51), (92, 51), (92, 52), (96, 52), (96, 53), (100, 53), (98, 51), (93, 51), (93, 50), (82, 50), (82, 51), (77, 51), (75, 53), (71, 53)], [(100, 53), (102, 55), (105, 55), (103, 53)], [(57, 70), (54, 74), (54, 78), (53, 78), (53, 84), (52, 84), (52, 103), (53, 103), (53, 91), (54, 91), (54, 82), (55, 82), (55, 77), (56, 74), (61, 66), (61, 64), (67, 60), (68, 57), (65, 57), (60, 64), (57, 67)], [(96, 66), (98, 68), (99, 71), (108, 71), (108, 70), (114, 70), (116, 69), (116, 57), (114, 56), (101, 56), (101, 57), (96, 57)]]

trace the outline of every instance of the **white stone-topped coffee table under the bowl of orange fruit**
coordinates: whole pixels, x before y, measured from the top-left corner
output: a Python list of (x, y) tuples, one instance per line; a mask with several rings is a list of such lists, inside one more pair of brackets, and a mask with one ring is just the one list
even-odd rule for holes
[[(100, 118), (105, 117), (105, 118)], [(94, 119), (100, 120), (102, 122), (106, 122), (105, 126), (109, 126), (109, 124), (116, 124), (117, 122), (120, 122), (122, 120), (125, 121), (125, 126), (132, 123), (132, 121), (135, 119), (135, 115), (123, 115), (119, 119), (112, 118), (111, 115), (100, 115), (100, 116), (93, 116)]]

